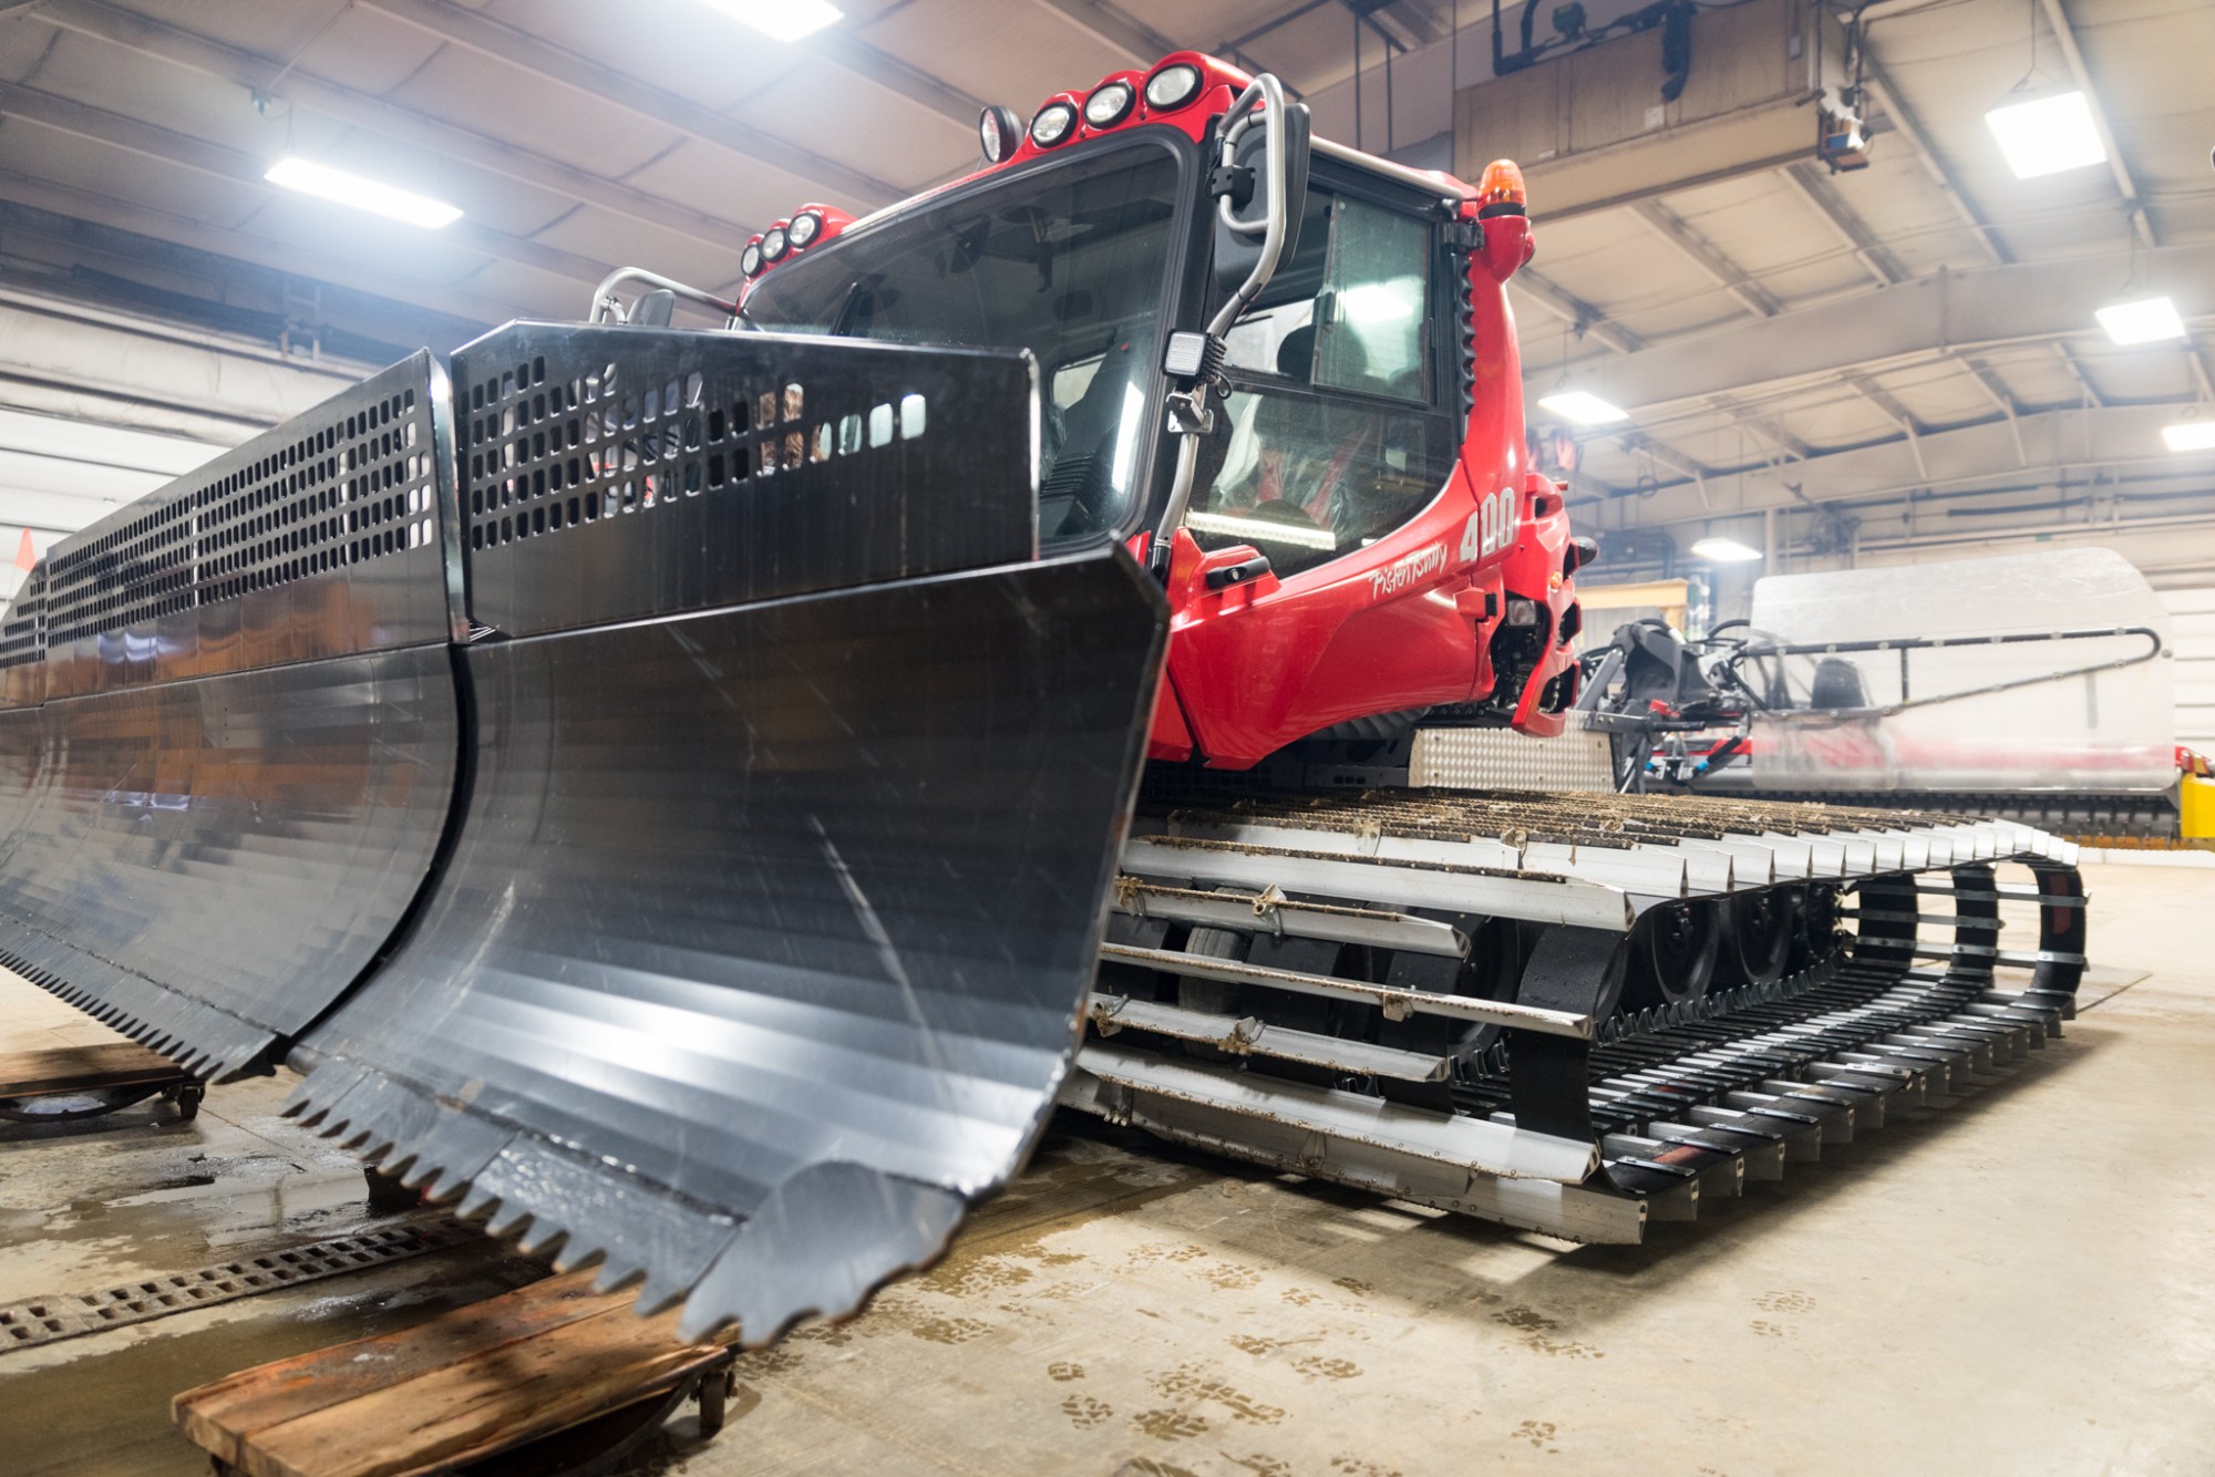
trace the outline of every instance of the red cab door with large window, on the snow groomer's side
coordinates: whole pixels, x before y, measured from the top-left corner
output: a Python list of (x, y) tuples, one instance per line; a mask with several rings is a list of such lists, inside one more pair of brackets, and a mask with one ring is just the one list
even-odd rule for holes
[[(1440, 221), (1318, 171), (1300, 246), (1229, 332), (1229, 396), (1172, 560), (1170, 682), (1243, 768), (1358, 717), (1471, 698)], [(1251, 556), (1267, 558), (1258, 578)], [(1245, 565), (1238, 578), (1207, 576)]]

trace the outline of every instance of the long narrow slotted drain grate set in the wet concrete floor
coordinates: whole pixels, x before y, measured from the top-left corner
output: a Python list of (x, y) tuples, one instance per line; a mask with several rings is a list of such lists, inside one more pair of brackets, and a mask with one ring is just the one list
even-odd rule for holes
[(436, 1216), (412, 1225), (379, 1227), (359, 1236), (337, 1236), (303, 1247), (268, 1251), (237, 1262), (162, 1273), (142, 1282), (126, 1282), (124, 1287), (104, 1287), (95, 1293), (27, 1298), (0, 1306), (0, 1355), (9, 1349), (33, 1349), (82, 1333), (100, 1333), (102, 1329), (120, 1329), (153, 1318), (168, 1318), (171, 1313), (208, 1309), (217, 1302), (270, 1293), (279, 1287), (365, 1271), (474, 1238), (476, 1231), (452, 1216)]

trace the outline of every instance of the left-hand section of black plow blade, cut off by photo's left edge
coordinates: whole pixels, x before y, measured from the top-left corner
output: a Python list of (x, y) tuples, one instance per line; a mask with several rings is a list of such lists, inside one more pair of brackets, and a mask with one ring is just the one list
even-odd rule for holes
[(202, 1076), (370, 968), (454, 806), (450, 443), (416, 354), (47, 554), (0, 627), (0, 963)]

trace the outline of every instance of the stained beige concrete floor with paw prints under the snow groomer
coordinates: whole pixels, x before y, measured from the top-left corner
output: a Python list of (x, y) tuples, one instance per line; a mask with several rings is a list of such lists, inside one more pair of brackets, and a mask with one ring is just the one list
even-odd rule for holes
[[(2211, 1473), (2215, 872), (2087, 881), (2106, 983), (2062, 1043), (1646, 1247), (1063, 1123), (939, 1269), (746, 1357), (724, 1435), (640, 1470)], [(0, 1045), (55, 1036), (104, 1032), (0, 983)], [(374, 1222), (284, 1092), (0, 1134), (0, 1302)], [(529, 1275), (470, 1247), (0, 1355), (0, 1473), (204, 1473), (175, 1391)]]

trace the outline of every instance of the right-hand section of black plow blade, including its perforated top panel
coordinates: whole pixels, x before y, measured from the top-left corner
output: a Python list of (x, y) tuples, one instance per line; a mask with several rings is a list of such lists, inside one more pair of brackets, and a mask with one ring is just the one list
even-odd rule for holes
[(1023, 354), (456, 354), (472, 773), (295, 1112), (762, 1344), (933, 1260), (1079, 1039), (1167, 613), (1034, 562)]

